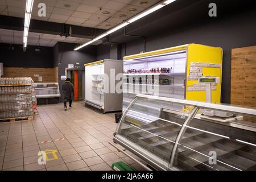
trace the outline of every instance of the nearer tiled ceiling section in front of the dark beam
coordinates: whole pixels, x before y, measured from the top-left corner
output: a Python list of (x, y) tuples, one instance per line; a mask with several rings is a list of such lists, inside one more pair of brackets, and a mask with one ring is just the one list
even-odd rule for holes
[[(46, 3), (46, 17), (38, 4)], [(32, 19), (108, 30), (159, 0), (34, 0)], [(26, 0), (0, 0), (0, 15), (24, 18)]]

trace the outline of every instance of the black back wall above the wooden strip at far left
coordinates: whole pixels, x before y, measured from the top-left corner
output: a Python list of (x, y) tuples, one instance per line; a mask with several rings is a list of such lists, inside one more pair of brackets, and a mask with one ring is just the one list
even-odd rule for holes
[(0, 44), (0, 62), (4, 67), (23, 68), (53, 68), (53, 49), (51, 47), (40, 47), (41, 51), (36, 52), (36, 46), (28, 46), (23, 52), (22, 45)]

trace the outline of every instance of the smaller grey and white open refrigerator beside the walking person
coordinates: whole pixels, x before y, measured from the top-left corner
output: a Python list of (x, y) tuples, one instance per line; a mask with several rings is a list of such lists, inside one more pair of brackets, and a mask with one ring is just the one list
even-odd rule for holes
[(104, 59), (84, 66), (85, 104), (104, 113), (122, 110), (123, 61)]

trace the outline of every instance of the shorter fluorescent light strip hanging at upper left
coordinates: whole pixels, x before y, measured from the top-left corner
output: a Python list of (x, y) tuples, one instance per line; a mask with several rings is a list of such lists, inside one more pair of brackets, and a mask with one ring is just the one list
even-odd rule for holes
[(31, 19), (33, 3), (34, 3), (34, 0), (27, 0), (27, 2), (26, 2), (24, 32), (23, 32), (23, 51), (26, 51), (26, 48), (27, 48), (27, 36), (28, 36), (28, 30), (30, 27), (30, 19)]

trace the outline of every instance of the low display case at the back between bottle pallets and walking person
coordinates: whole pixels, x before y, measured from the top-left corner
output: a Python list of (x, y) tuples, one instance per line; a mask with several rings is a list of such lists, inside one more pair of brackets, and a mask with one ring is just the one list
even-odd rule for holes
[(38, 104), (57, 104), (60, 98), (58, 82), (40, 82), (32, 84), (35, 88)]

